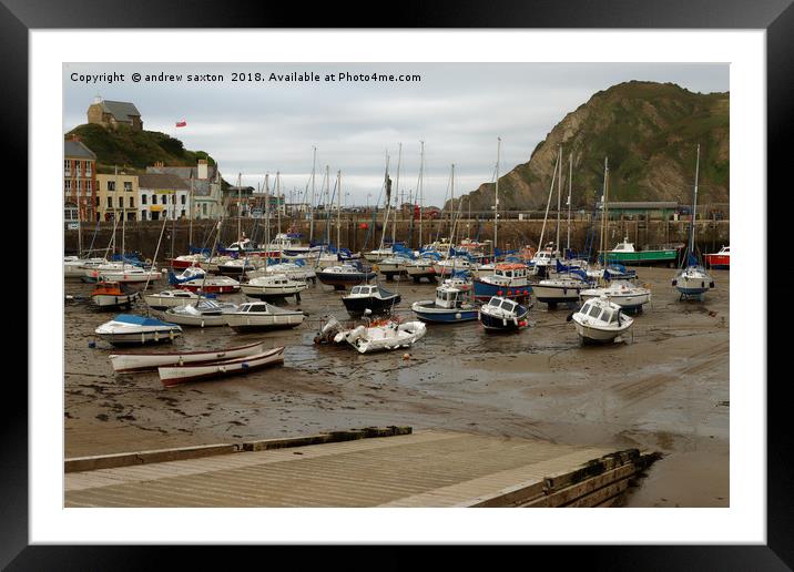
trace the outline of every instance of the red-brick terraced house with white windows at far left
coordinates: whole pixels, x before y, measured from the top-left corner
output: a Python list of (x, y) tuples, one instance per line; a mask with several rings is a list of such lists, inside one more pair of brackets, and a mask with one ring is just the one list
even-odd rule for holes
[(63, 142), (63, 216), (67, 224), (96, 221), (96, 154), (78, 137)]

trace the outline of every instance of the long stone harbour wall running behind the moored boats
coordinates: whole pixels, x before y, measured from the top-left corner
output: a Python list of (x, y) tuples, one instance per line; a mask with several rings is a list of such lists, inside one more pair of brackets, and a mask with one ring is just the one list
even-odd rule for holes
[[(195, 246), (211, 247), (211, 235), (215, 234), (216, 221), (193, 221), (192, 229), (190, 221), (169, 221), (163, 227), (161, 221), (138, 221), (130, 222), (124, 228), (124, 248), (126, 252), (139, 252), (145, 258), (154, 258), (157, 241), (162, 233), (162, 242), (157, 259), (163, 261), (173, 255), (187, 253), (189, 244)], [(240, 228), (246, 236), (253, 237), (256, 243), (265, 241), (264, 223), (261, 219), (243, 218), (240, 221)], [(628, 237), (635, 247), (645, 247), (671, 243), (685, 243), (690, 228), (689, 221), (610, 221), (605, 233), (607, 248), (613, 248), (615, 244)], [(308, 243), (309, 222), (301, 221), (289, 226), (283, 224), (283, 232), (303, 233), (304, 242)], [(337, 223), (329, 224), (330, 242), (336, 244)], [(314, 222), (315, 241), (323, 241), (327, 234), (325, 221)], [(557, 235), (556, 223), (547, 223), (543, 229), (543, 221), (501, 221), (498, 227), (498, 246), (501, 249), (518, 249), (525, 245), (537, 247), (541, 232), (543, 243), (553, 241)], [(588, 234), (593, 233), (593, 223), (590, 221), (573, 221), (570, 229), (570, 244), (576, 251), (583, 251), (587, 244)], [(695, 225), (698, 247), (702, 252), (717, 252), (721, 246), (730, 243), (730, 221), (698, 221)], [(79, 234), (82, 236), (79, 238)], [(100, 223), (99, 226), (85, 225), (82, 231), (64, 231), (64, 253), (77, 254), (79, 242), (82, 242), (83, 251), (93, 248), (103, 251), (111, 244), (113, 237), (113, 223)], [(275, 223), (271, 229), (271, 236), (275, 236)], [(368, 251), (380, 245), (383, 225), (377, 223), (373, 226), (371, 218), (343, 217), (339, 227), (342, 246), (353, 252)], [(427, 244), (437, 238), (450, 236), (449, 221), (423, 221), (421, 243)], [(191, 241), (192, 235), (192, 241)], [(391, 237), (391, 223), (387, 231), (387, 241)], [(480, 242), (493, 238), (493, 222), (462, 219), (458, 222), (455, 231), (456, 242), (461, 237), (478, 238)], [(418, 222), (398, 221), (396, 224), (395, 238), (405, 241), (411, 247), (419, 246)], [(221, 229), (221, 242), (228, 245), (237, 239), (237, 219), (226, 219)], [(121, 252), (122, 228), (115, 228), (115, 252)], [(592, 252), (599, 248), (600, 228), (594, 231), (594, 245)], [(560, 225), (560, 244), (568, 243), (568, 223)], [(98, 255), (102, 254), (96, 252)]]

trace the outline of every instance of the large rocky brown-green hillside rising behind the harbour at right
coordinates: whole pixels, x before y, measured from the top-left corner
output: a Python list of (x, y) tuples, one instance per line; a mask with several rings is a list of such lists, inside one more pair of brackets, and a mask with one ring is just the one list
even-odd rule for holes
[[(592, 208), (601, 196), (604, 156), (609, 157), (610, 201), (686, 204), (692, 200), (698, 143), (699, 202), (727, 203), (729, 93), (693, 93), (672, 83), (613, 85), (566, 115), (527, 163), (499, 177), (499, 207), (546, 208), (560, 144), (563, 203), (569, 155), (573, 154), (572, 202), (577, 208)], [(472, 191), (468, 195), (471, 210), (491, 210), (493, 193), (493, 183)], [(552, 198), (552, 206), (556, 202)]]

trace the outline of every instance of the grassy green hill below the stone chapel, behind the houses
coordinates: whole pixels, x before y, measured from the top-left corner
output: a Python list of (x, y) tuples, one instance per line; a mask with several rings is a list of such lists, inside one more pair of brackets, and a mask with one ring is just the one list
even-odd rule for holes
[(206, 152), (187, 151), (180, 140), (157, 131), (132, 131), (125, 125), (112, 130), (85, 124), (67, 133), (65, 139), (72, 135), (78, 135), (96, 153), (99, 173), (112, 173), (114, 166), (128, 172), (145, 172), (146, 166), (157, 161), (167, 166), (194, 166), (200, 159), (215, 164)]

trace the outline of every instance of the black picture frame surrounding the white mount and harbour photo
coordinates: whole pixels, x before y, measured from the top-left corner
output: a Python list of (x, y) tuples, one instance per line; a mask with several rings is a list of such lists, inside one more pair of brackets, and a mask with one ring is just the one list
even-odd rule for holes
[[(408, 1), (393, 7), (390, 17), (377, 16), (377, 7), (364, 2), (306, 6), (288, 2), (194, 0), (190, 3), (139, 0), (84, 0), (79, 4), (54, 0), (0, 0), (0, 67), (2, 68), (3, 105), (0, 125), (3, 139), (11, 142), (9, 165), (27, 164), (28, 156), (28, 33), (32, 29), (71, 28), (633, 28), (633, 29), (763, 29), (767, 48), (767, 173), (784, 188), (784, 168), (791, 163), (791, 134), (794, 110), (794, 8), (792, 0), (496, 0), (489, 2)], [(353, 16), (356, 14), (356, 16)], [(27, 171), (16, 170), (16, 185)], [(786, 181), (784, 183), (784, 181)], [(787, 186), (787, 185), (786, 185)], [(16, 191), (19, 192), (19, 191)], [(32, 192), (32, 191), (31, 191)], [(744, 192), (750, 192), (744, 190)], [(761, 196), (765, 190), (752, 190)], [(778, 194), (780, 196), (780, 194)], [(771, 195), (767, 194), (767, 200)], [(784, 210), (778, 210), (778, 216)], [(30, 222), (30, 221), (29, 221)], [(775, 227), (767, 218), (767, 228)], [(783, 226), (783, 225), (781, 225)], [(778, 228), (778, 226), (777, 226)], [(22, 236), (22, 235), (20, 235)], [(767, 244), (773, 235), (760, 237)], [(780, 237), (778, 237), (780, 238)], [(754, 255), (766, 256), (762, 248)], [(768, 299), (785, 299), (782, 284), (767, 288)], [(766, 308), (754, 308), (764, 311)], [(770, 320), (767, 320), (767, 324)], [(785, 351), (766, 333), (767, 357)], [(775, 351), (777, 349), (777, 351)], [(778, 358), (780, 359), (780, 358)], [(771, 364), (759, 364), (759, 371), (773, 371)], [(517, 550), (559, 558), (567, 563), (587, 561), (589, 569), (610, 570), (788, 570), (794, 566), (794, 473), (788, 468), (792, 431), (786, 423), (790, 413), (785, 378), (782, 372), (767, 385), (767, 543), (765, 545), (688, 545), (688, 547), (521, 547), (506, 549), (505, 559)], [(11, 381), (14, 381), (13, 384)], [(755, 381), (755, 380), (744, 380)], [(28, 392), (18, 380), (9, 379), (3, 388), (0, 418), (2, 428), (2, 479), (0, 486), (0, 566), (9, 570), (126, 570), (162, 563), (162, 558), (179, 551), (180, 568), (208, 568), (207, 551), (196, 547), (181, 549), (157, 547), (29, 545), (28, 542)], [(732, 420), (736, 422), (735, 419)], [(227, 554), (232, 552), (227, 548)], [(345, 561), (350, 550), (337, 547), (325, 563)], [(275, 548), (267, 550), (274, 551)], [(279, 548), (271, 562), (287, 556)], [(235, 550), (236, 552), (236, 550)], [(247, 552), (247, 551), (246, 551)], [(457, 555), (469, 559), (459, 548)], [(510, 555), (510, 554), (513, 555)], [(360, 554), (360, 553), (358, 553)], [(240, 563), (245, 558), (236, 552)], [(360, 556), (356, 556), (358, 559)], [(502, 558), (502, 556), (500, 556)], [(521, 554), (518, 558), (526, 559)], [(416, 556), (389, 548), (381, 564), (406, 568)], [(526, 561), (525, 561), (526, 562)], [(445, 568), (451, 562), (447, 562)], [(228, 564), (228, 561), (226, 562)], [(302, 566), (303, 568), (303, 566)]]

